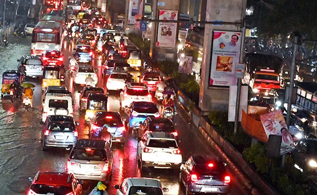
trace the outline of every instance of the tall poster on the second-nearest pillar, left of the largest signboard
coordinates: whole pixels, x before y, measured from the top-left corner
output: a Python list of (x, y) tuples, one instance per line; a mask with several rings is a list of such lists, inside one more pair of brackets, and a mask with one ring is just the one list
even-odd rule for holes
[[(159, 10), (158, 20), (177, 20), (178, 11)], [(177, 23), (158, 23), (157, 47), (175, 47)]]

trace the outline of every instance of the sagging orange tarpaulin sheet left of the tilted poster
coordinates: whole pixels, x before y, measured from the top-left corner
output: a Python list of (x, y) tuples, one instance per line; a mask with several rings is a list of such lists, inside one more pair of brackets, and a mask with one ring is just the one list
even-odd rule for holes
[(263, 125), (261, 121), (256, 120), (255, 118), (247, 115), (244, 110), (242, 110), (242, 120), (241, 125), (248, 135), (253, 138), (258, 139), (262, 142), (268, 142), (268, 138), (265, 134)]

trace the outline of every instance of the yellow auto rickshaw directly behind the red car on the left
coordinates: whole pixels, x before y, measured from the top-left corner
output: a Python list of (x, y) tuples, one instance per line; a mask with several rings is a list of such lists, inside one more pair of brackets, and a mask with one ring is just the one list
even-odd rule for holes
[(60, 78), (59, 67), (44, 67), (42, 90), (45, 90), (48, 86), (61, 86)]

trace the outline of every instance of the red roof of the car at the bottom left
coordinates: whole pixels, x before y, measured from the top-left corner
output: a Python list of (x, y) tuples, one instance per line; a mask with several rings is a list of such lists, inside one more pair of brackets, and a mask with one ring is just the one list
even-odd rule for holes
[(72, 186), (71, 174), (59, 172), (38, 172), (34, 178), (34, 184), (53, 184), (60, 186)]

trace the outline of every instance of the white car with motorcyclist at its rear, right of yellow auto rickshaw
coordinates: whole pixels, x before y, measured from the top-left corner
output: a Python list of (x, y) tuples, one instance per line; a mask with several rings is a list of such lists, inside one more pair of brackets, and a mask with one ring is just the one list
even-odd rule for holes
[(94, 79), (94, 85), (98, 82), (98, 77), (95, 69), (90, 65), (79, 65), (77, 66), (76, 71), (73, 73), (74, 83), (75, 84), (86, 84), (86, 78), (88, 75), (91, 75), (91, 78)]

